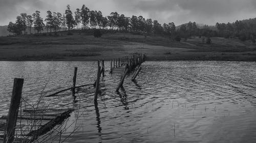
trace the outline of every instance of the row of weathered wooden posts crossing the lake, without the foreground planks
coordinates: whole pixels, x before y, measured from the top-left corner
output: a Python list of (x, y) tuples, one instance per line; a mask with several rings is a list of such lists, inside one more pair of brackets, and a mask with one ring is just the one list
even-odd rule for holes
[[(132, 76), (132, 81), (135, 80), (136, 76), (138, 75), (139, 71), (141, 70), (140, 65), (144, 61), (145, 61), (144, 54), (143, 55), (136, 54), (136, 55), (131, 55), (131, 56), (124, 56), (122, 58), (111, 60), (110, 73), (113, 72), (114, 68), (118, 68), (118, 67), (121, 67), (122, 65), (125, 65), (124, 71), (121, 76), (121, 80), (116, 89), (117, 92), (119, 91), (120, 87), (122, 87), (122, 84), (123, 84), (126, 74), (128, 72), (131, 72), (132, 70), (134, 70), (136, 67), (138, 67), (137, 71)], [(101, 66), (100, 66), (100, 63), (101, 63)], [(112, 65), (112, 63), (113, 63), (113, 65)], [(58, 91), (56, 93), (50, 94), (46, 97), (56, 96), (57, 94), (59, 94), (61, 92), (68, 91), (68, 90), (71, 90), (72, 95), (74, 96), (76, 88), (94, 85), (94, 87), (95, 87), (94, 101), (95, 101), (95, 104), (97, 104), (100, 76), (102, 74), (102, 76), (104, 77), (104, 72), (105, 72), (104, 60), (98, 60), (97, 68), (98, 68), (97, 78), (96, 78), (96, 81), (94, 84), (85, 84), (85, 85), (76, 86), (77, 67), (75, 67), (74, 68), (74, 76), (73, 76), (73, 86), (71, 88), (64, 89), (64, 90)], [(11, 96), (11, 104), (10, 104), (10, 108), (9, 108), (9, 112), (8, 112), (8, 119), (7, 119), (5, 132), (4, 132), (4, 142), (13, 142), (13, 140), (14, 140), (15, 127), (16, 127), (16, 122), (17, 122), (17, 118), (18, 118), (18, 109), (20, 106), (20, 100), (22, 98), (23, 83), (24, 83), (23, 78), (15, 78), (14, 79), (12, 96)]]

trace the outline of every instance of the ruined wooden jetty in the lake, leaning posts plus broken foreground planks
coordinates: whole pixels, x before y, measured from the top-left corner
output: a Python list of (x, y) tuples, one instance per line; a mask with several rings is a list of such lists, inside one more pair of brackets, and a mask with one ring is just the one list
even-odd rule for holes
[[(120, 73), (121, 71), (121, 78), (117, 85), (116, 92), (119, 91), (119, 89), (123, 86), (124, 79), (127, 75), (127, 73), (132, 72), (136, 69), (132, 76), (132, 81), (135, 81), (135, 78), (139, 74), (141, 67), (140, 65), (145, 61), (145, 54), (134, 54), (130, 56), (123, 56), (121, 58), (116, 58), (110, 61), (110, 74), (113, 73)], [(137, 67), (137, 68), (136, 68)], [(119, 70), (118, 70), (119, 69)], [(93, 84), (84, 84), (84, 85), (76, 85), (76, 78), (77, 78), (77, 70), (78, 68), (74, 68), (74, 75), (73, 75), (73, 84), (72, 87), (68, 89), (63, 89), (60, 91), (57, 91), (53, 94), (47, 95), (45, 97), (52, 97), (57, 96), (59, 93), (65, 92), (65, 91), (72, 91), (72, 96), (75, 96), (76, 89), (80, 87), (88, 87), (88, 86), (94, 86), (95, 87), (95, 94), (94, 94), (94, 104), (97, 106), (97, 98), (100, 92), (100, 76), (105, 76), (105, 64), (104, 60), (98, 60), (97, 61), (97, 75), (96, 80)], [(23, 78), (15, 78), (13, 83), (13, 90), (12, 90), (12, 96), (11, 96), (11, 104), (8, 112), (8, 117), (6, 118), (6, 127), (3, 135), (3, 141), (5, 143), (7, 142), (14, 142), (14, 140), (20, 141), (22, 138), (16, 138), (15, 139), (15, 130), (16, 130), (16, 123), (17, 119), (26, 119), (26, 120), (42, 120), (42, 119), (49, 119), (50, 121), (46, 124), (42, 125), (42, 127), (37, 128), (35, 130), (32, 130), (25, 134), (25, 136), (33, 136), (32, 138), (26, 138), (22, 140), (22, 142), (32, 142), (34, 141), (38, 136), (44, 134), (47, 131), (50, 131), (55, 124), (59, 124), (61, 121), (65, 120), (69, 117), (69, 114), (72, 112), (71, 109), (63, 109), (59, 111), (58, 114), (52, 114), (52, 118), (46, 118), (46, 115), (42, 115), (39, 109), (34, 110), (23, 110), (23, 112), (33, 112), (33, 117), (28, 117), (26, 115), (18, 116), (19, 106), (22, 99), (22, 89), (23, 89)], [(53, 109), (54, 110), (54, 109)], [(23, 116), (23, 117), (22, 117)], [(50, 115), (48, 114), (47, 117)], [(26, 117), (26, 118), (25, 118)], [(0, 136), (1, 137), (1, 136)]]

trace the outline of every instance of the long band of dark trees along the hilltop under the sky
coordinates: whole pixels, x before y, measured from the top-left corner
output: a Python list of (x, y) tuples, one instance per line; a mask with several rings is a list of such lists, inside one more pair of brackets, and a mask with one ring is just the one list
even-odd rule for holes
[(115, 32), (129, 32), (144, 35), (162, 35), (180, 41), (191, 36), (199, 37), (238, 37), (241, 41), (251, 40), (255, 43), (256, 18), (236, 21), (233, 23), (216, 23), (216, 30), (208, 25), (198, 27), (196, 22), (188, 22), (176, 27), (174, 22), (160, 24), (157, 20), (145, 19), (142, 16), (126, 17), (123, 14), (112, 12), (109, 16), (103, 17), (100, 11), (94, 11), (85, 5), (81, 9), (73, 12), (70, 5), (67, 5), (65, 13), (47, 11), (47, 16), (43, 19), (39, 11), (32, 15), (21, 13), (17, 16), (15, 23), (10, 22), (8, 31), (14, 35), (41, 33), (46, 29), (47, 33), (70, 31), (70, 30), (104, 30)]

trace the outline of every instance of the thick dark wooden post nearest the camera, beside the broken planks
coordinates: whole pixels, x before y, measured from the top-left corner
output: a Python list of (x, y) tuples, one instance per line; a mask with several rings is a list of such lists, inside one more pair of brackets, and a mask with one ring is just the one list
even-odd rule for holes
[(12, 143), (14, 141), (15, 128), (18, 118), (18, 109), (20, 105), (20, 99), (22, 98), (23, 83), (23, 78), (14, 78), (11, 104), (4, 133), (4, 143)]

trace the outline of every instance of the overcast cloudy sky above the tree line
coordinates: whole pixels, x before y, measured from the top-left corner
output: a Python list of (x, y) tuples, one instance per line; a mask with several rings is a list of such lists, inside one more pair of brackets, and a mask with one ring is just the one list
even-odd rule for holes
[(255, 0), (0, 0), (0, 25), (8, 25), (23, 12), (39, 10), (44, 18), (48, 10), (63, 13), (68, 4), (73, 11), (84, 4), (103, 16), (116, 11), (176, 25), (188, 21), (214, 25), (256, 17)]

